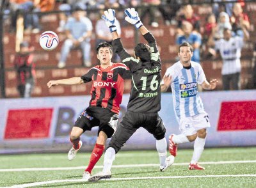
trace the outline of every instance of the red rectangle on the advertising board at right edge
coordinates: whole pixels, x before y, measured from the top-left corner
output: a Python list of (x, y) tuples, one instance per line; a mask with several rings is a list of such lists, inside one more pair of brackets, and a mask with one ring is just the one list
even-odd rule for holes
[(256, 129), (256, 101), (222, 102), (217, 130)]

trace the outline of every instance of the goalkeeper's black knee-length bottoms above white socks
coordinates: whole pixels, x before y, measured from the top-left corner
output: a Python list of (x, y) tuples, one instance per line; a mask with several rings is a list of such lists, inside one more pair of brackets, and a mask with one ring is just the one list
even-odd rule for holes
[(166, 129), (158, 113), (134, 113), (127, 111), (111, 138), (109, 147), (114, 148), (117, 153), (140, 127), (146, 129), (157, 140), (165, 137)]

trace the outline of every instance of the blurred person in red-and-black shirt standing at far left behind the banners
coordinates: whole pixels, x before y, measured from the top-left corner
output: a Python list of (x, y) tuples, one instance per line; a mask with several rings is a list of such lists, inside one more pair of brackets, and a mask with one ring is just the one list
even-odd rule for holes
[(17, 89), (20, 97), (31, 97), (31, 91), (35, 84), (35, 64), (28, 42), (20, 43), (20, 52), (16, 54), (13, 64), (17, 71)]

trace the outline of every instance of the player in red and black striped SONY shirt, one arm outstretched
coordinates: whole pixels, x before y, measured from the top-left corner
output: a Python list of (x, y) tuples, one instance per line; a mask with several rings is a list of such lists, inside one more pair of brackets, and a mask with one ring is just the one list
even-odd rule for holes
[(88, 180), (92, 169), (99, 161), (106, 144), (116, 130), (120, 104), (124, 92), (124, 79), (131, 79), (129, 68), (123, 63), (111, 63), (112, 46), (102, 42), (97, 47), (97, 65), (81, 77), (72, 77), (57, 81), (49, 81), (47, 86), (51, 88), (58, 84), (82, 84), (92, 81), (90, 105), (80, 114), (70, 132), (70, 141), (73, 147), (68, 152), (68, 160), (74, 159), (81, 148), (81, 134), (92, 127), (99, 126), (98, 137), (93, 148), (88, 167), (84, 170), (83, 179)]

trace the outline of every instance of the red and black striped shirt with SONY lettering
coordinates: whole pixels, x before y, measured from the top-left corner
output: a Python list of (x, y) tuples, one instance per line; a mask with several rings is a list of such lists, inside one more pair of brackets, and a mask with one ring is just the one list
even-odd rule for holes
[(92, 81), (90, 106), (99, 106), (119, 113), (124, 93), (124, 79), (131, 79), (129, 68), (123, 63), (113, 63), (104, 69), (97, 65), (81, 76), (84, 82)]

